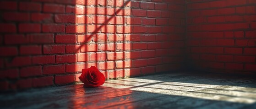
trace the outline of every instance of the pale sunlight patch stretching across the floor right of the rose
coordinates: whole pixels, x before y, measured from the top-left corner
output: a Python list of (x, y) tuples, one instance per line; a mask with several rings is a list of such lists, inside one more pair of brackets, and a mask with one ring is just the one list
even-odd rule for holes
[[(185, 82), (165, 82), (136, 78), (108, 80), (105, 82), (105, 84), (103, 84), (103, 86), (234, 103), (256, 103), (256, 93), (254, 92), (256, 88), (247, 88), (241, 86), (214, 85), (211, 83), (195, 84)], [(246, 89), (248, 91), (245, 91)]]

